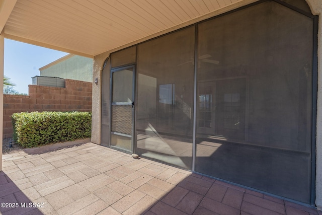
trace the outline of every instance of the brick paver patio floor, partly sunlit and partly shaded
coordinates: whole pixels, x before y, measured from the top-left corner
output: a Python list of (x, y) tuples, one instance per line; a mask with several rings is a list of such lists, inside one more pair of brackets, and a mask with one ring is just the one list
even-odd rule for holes
[(4, 154), (0, 213), (322, 214), (91, 142), (73, 144)]

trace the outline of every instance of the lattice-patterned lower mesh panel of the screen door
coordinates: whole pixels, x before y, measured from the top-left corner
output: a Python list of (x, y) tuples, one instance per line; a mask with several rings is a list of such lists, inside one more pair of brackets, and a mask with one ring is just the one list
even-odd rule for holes
[(132, 135), (132, 106), (112, 106), (112, 131)]

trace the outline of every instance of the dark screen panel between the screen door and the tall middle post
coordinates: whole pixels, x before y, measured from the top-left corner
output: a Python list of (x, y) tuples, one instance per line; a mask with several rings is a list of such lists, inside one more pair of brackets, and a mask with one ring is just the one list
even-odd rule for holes
[(192, 168), (194, 27), (138, 45), (136, 152)]

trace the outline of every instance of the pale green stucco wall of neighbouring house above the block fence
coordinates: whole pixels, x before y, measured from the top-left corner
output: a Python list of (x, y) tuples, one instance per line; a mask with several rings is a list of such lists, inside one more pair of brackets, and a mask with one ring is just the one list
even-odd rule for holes
[(58, 59), (57, 63), (50, 63), (39, 70), (40, 76), (92, 82), (93, 59), (71, 55), (65, 60)]

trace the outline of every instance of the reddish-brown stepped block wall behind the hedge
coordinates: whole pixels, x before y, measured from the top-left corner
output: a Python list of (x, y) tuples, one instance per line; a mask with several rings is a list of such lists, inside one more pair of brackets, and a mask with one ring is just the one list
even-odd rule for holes
[(29, 85), (29, 95), (4, 95), (3, 138), (13, 136), (12, 114), (32, 111), (92, 111), (92, 83), (65, 79), (65, 88)]

